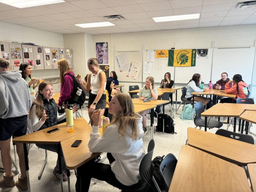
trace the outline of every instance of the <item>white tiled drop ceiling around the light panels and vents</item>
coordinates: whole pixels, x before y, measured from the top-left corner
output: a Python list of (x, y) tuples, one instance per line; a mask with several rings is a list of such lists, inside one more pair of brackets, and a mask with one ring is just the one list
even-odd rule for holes
[[(18, 9), (0, 3), (0, 20), (57, 33), (89, 34), (154, 31), (256, 23), (256, 6), (234, 9), (248, 0), (65, 0)], [(155, 23), (152, 17), (200, 13), (199, 19)], [(122, 15), (110, 21), (103, 16)], [(116, 26), (81, 28), (74, 24), (110, 21)]]

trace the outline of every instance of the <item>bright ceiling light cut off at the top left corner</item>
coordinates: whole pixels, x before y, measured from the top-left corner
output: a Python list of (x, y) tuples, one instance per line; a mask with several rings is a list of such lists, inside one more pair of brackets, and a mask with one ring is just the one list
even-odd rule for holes
[(34, 7), (41, 5), (49, 5), (53, 3), (63, 3), (64, 0), (0, 0), (0, 3), (4, 3), (17, 8)]

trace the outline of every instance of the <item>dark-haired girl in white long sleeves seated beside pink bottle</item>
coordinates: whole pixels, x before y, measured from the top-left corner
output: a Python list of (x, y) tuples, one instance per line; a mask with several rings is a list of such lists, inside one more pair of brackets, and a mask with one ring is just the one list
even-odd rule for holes
[[(195, 73), (193, 76), (192, 76), (192, 79), (190, 79), (189, 81), (189, 84), (187, 86), (187, 91), (186, 91), (186, 98), (189, 100), (189, 101), (193, 101), (193, 96), (191, 93), (193, 92), (203, 92), (203, 91), (208, 91), (208, 89), (201, 89), (200, 88), (200, 84), (201, 84), (201, 75), (198, 74), (198, 73)], [(210, 99), (209, 98), (206, 98), (206, 97), (202, 97), (202, 96), (199, 96), (199, 95), (195, 95), (194, 97), (194, 101), (195, 102), (202, 102), (203, 105), (206, 105)]]

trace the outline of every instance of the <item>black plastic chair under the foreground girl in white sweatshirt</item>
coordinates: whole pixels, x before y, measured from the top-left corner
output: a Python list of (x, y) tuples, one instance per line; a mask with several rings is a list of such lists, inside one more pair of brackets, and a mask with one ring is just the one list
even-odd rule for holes
[(145, 154), (140, 162), (139, 170), (141, 179), (139, 182), (122, 189), (122, 192), (146, 192), (151, 187), (154, 172), (154, 165), (152, 163), (154, 145), (154, 140), (150, 140), (148, 144), (148, 153)]

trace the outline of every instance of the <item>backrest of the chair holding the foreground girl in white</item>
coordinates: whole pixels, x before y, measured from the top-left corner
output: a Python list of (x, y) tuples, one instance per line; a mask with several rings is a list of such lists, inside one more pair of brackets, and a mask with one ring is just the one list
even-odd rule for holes
[[(151, 149), (151, 150), (150, 150)], [(154, 140), (151, 140), (148, 144), (148, 153), (144, 155), (140, 162), (140, 176), (143, 180), (148, 184), (148, 186), (151, 186), (151, 181), (153, 177), (154, 172), (154, 165), (152, 163), (152, 156), (154, 151)]]

